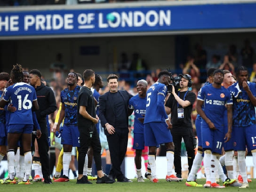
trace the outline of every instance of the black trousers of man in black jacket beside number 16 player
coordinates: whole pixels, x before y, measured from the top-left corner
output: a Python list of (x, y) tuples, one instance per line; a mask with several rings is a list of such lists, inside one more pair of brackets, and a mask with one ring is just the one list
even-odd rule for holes
[(42, 174), (44, 178), (49, 178), (50, 176), (50, 165), (49, 165), (49, 138), (46, 122), (39, 123), (41, 128), (41, 137), (37, 140), (38, 143), (38, 152), (40, 155), (40, 162), (42, 166)]

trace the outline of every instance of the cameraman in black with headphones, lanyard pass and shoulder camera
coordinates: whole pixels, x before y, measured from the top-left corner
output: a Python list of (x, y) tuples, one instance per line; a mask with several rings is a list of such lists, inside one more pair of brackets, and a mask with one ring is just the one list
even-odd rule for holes
[[(175, 92), (175, 87), (180, 85), (180, 91)], [(183, 138), (187, 157), (189, 172), (195, 158), (195, 145), (193, 143), (193, 127), (191, 121), (192, 106), (195, 102), (195, 93), (189, 91), (192, 86), (191, 76), (188, 74), (180, 76), (180, 84), (172, 86), (172, 94), (165, 104), (166, 113), (172, 113), (172, 137), (175, 145), (174, 166), (177, 177), (181, 178), (181, 140)], [(176, 87), (177, 89), (178, 87)]]

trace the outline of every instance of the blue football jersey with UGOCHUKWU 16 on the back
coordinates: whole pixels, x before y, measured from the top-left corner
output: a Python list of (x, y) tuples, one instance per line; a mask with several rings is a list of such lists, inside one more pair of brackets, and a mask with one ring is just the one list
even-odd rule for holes
[(27, 83), (16, 83), (6, 88), (3, 96), (5, 101), (11, 98), (12, 106), (17, 110), (10, 113), (9, 125), (11, 124), (33, 124), (32, 102), (37, 100), (34, 87)]

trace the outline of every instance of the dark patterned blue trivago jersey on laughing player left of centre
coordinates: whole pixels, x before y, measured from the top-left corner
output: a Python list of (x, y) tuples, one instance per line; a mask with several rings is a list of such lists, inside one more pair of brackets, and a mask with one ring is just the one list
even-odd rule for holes
[(61, 102), (65, 105), (64, 123), (75, 125), (77, 124), (77, 99), (80, 86), (76, 86), (74, 90), (68, 88), (61, 91)]

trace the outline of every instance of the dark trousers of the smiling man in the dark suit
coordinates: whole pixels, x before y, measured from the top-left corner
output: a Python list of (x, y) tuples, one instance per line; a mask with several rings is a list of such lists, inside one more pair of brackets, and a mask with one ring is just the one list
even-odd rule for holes
[(121, 165), (127, 151), (128, 133), (128, 128), (116, 128), (114, 134), (107, 135), (112, 163), (109, 175), (116, 177), (117, 181), (123, 180), (125, 177), (121, 171)]

